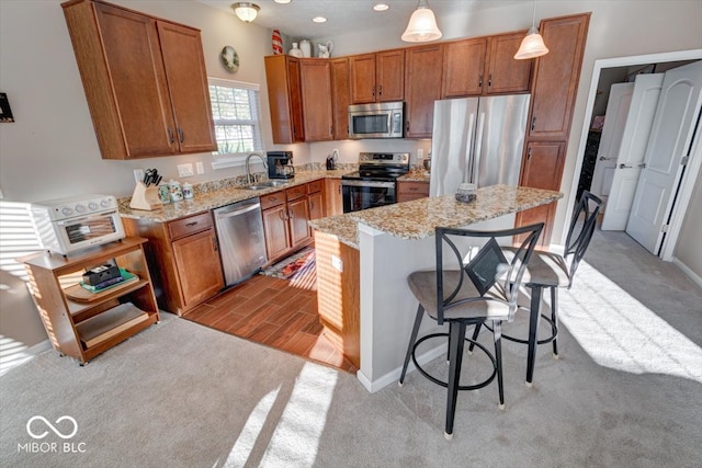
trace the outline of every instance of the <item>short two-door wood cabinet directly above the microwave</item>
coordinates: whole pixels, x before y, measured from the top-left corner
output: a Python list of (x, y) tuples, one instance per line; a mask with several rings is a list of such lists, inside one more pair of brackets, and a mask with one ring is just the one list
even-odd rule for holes
[(405, 49), (349, 57), (351, 104), (405, 98)]

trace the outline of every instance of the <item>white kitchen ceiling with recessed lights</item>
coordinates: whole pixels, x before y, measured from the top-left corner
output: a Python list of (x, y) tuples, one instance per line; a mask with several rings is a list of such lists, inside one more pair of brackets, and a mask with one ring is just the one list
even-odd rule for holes
[[(196, 1), (234, 15), (233, 0)], [(389, 9), (383, 12), (373, 11), (373, 5), (381, 1), (389, 5)], [(441, 28), (441, 18), (449, 16), (451, 13), (502, 8), (517, 3), (531, 3), (531, 1), (429, 0), (429, 7), (437, 15), (439, 28)], [(309, 39), (382, 30), (388, 24), (394, 25), (394, 28), (400, 25), (399, 28), (404, 31), (418, 4), (416, 0), (292, 0), (287, 4), (275, 3), (273, 0), (252, 0), (252, 2), (261, 9), (254, 20), (256, 24), (280, 30), (287, 36)], [(327, 22), (313, 23), (312, 19), (317, 15), (327, 18)]]

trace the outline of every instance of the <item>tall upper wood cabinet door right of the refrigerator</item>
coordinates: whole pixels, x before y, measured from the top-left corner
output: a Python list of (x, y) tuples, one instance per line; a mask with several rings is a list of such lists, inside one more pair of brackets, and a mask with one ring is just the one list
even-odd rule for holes
[(567, 140), (590, 15), (541, 22), (548, 54), (536, 58), (529, 137)]

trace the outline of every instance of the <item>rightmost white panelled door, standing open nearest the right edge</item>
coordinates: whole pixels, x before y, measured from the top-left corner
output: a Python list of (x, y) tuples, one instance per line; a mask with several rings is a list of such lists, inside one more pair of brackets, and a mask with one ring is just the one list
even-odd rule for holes
[(626, 232), (655, 255), (689, 156), (702, 106), (702, 61), (665, 73)]

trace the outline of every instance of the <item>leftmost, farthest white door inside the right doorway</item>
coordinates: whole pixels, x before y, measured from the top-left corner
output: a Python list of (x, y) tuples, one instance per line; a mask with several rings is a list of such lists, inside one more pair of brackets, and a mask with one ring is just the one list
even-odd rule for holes
[(597, 150), (597, 160), (590, 184), (590, 192), (602, 198), (604, 203), (607, 203), (607, 197), (612, 186), (616, 157), (622, 145), (622, 134), (624, 133), (633, 92), (634, 83), (615, 83), (610, 88), (602, 137)]

